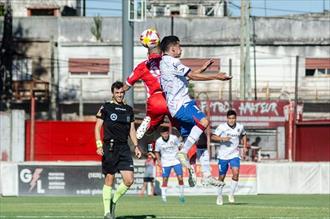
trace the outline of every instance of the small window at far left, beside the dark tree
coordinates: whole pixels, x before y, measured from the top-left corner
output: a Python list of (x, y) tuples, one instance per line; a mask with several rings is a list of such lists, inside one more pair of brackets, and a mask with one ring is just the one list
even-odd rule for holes
[(14, 59), (12, 63), (14, 81), (32, 80), (31, 59)]

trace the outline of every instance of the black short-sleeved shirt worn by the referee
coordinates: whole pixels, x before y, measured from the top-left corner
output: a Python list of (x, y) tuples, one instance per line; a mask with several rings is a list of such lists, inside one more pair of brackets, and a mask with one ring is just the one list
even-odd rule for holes
[(127, 104), (116, 104), (113, 101), (103, 104), (96, 114), (103, 120), (103, 142), (127, 143), (131, 122), (134, 121), (133, 109)]

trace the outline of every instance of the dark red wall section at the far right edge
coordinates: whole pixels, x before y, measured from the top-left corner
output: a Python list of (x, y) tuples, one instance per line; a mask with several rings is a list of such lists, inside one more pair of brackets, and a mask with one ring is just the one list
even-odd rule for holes
[(296, 161), (330, 161), (330, 120), (297, 124)]

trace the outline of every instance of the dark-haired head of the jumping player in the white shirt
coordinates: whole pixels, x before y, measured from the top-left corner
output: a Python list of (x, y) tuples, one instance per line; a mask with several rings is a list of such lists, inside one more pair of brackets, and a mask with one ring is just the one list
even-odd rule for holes
[(164, 54), (168, 54), (175, 58), (180, 58), (182, 49), (180, 40), (177, 36), (166, 36), (160, 42), (160, 48)]

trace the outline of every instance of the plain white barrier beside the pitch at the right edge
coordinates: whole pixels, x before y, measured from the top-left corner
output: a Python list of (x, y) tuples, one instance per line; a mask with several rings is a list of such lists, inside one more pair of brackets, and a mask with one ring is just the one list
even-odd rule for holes
[(258, 194), (329, 194), (330, 163), (260, 163)]

